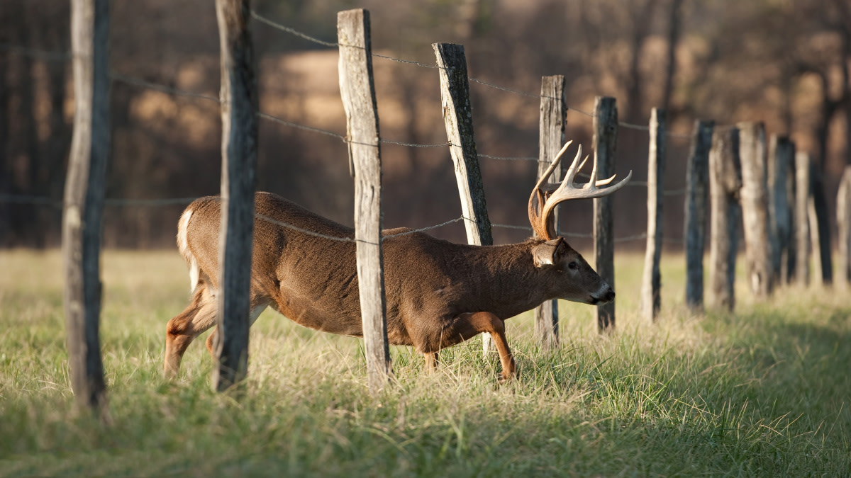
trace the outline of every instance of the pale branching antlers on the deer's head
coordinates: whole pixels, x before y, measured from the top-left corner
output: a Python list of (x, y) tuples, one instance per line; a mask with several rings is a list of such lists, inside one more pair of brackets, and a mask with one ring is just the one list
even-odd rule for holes
[(558, 162), (562, 161), (564, 151), (568, 150), (568, 146), (571, 143), (573, 143), (572, 140), (568, 141), (562, 147), (562, 151), (558, 151), (556, 159), (553, 160), (550, 168), (547, 168), (546, 172), (538, 179), (538, 184), (534, 185), (532, 195), (529, 196), (529, 222), (532, 224), (535, 234), (547, 241), (557, 237), (553, 222), (550, 220), (550, 215), (559, 202), (568, 201), (568, 199), (592, 199), (608, 196), (624, 187), (632, 177), (632, 171), (630, 171), (624, 179), (621, 179), (614, 185), (601, 189), (599, 186), (608, 185), (612, 182), (614, 176), (608, 179), (597, 179), (597, 162), (594, 162), (594, 167), (591, 169), (591, 179), (584, 185), (575, 185), (574, 179), (576, 174), (580, 172), (588, 160), (588, 156), (585, 156), (585, 159), (579, 163), (579, 166), (576, 165), (580, 160), (580, 156), (582, 156), (582, 145), (580, 145), (579, 151), (576, 152), (576, 157), (574, 157), (574, 162), (570, 163), (570, 167), (567, 174), (564, 175), (562, 183), (547, 183), (546, 181), (550, 179), (552, 172), (558, 166)]

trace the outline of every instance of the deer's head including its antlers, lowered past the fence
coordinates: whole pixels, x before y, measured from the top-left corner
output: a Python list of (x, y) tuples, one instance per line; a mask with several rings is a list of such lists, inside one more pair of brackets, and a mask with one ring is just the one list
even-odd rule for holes
[(568, 141), (562, 150), (558, 151), (556, 159), (540, 177), (532, 190), (532, 195), (529, 196), (529, 223), (535, 234), (545, 241), (533, 248), (534, 264), (542, 270), (549, 270), (554, 275), (559, 299), (586, 304), (603, 304), (614, 299), (614, 290), (591, 268), (591, 265), (588, 265), (580, 253), (571, 248), (563, 237), (557, 235), (552, 215), (560, 202), (569, 199), (593, 199), (618, 191), (629, 182), (632, 172), (630, 171), (624, 179), (614, 185), (610, 185), (614, 176), (598, 180), (595, 162), (591, 169), (591, 179), (583, 185), (576, 185), (574, 182), (576, 174), (585, 166), (585, 161), (588, 159), (588, 156), (585, 156), (585, 159), (580, 162), (582, 156), (580, 145), (562, 182), (547, 182), (571, 142)]

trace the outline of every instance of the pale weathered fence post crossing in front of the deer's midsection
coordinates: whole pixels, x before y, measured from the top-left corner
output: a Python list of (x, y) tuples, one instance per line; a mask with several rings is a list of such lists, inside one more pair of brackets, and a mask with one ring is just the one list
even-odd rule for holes
[(355, 174), (355, 240), (363, 346), (369, 389), (377, 391), (391, 378), (392, 365), (381, 255), (381, 149), (368, 10), (338, 13), (337, 41), (340, 95), (346, 107), (349, 158)]

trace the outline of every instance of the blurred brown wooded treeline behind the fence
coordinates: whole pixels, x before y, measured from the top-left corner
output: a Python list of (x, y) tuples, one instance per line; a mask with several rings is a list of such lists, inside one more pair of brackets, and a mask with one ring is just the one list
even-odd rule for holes
[[(254, 2), (259, 14), (330, 42), (336, 36), (335, 12), (356, 6), (371, 10), (378, 54), (432, 65), (431, 43), (463, 43), (471, 77), (536, 95), (541, 76), (562, 74), (569, 106), (593, 111), (595, 96), (613, 96), (620, 121), (642, 126), (652, 107), (664, 107), (672, 134), (688, 135), (695, 119), (717, 125), (765, 122), (769, 133), (788, 134), (798, 151), (812, 154), (835, 210), (842, 168), (851, 163), (851, 5), (845, 0)], [(111, 9), (113, 77), (218, 95), (213, 3), (140, 0), (114, 2)], [(337, 49), (266, 25), (255, 25), (254, 32), (260, 110), (344, 133)], [(0, 245), (59, 242), (60, 208), (43, 200), (62, 197), (73, 111), (69, 45), (67, 2), (3, 2)], [(444, 143), (437, 71), (380, 58), (374, 69), (382, 137)], [(473, 83), (471, 103), (480, 153), (537, 155), (537, 98)], [(107, 197), (218, 193), (219, 105), (116, 79), (111, 111)], [(568, 112), (569, 138), (590, 145), (591, 128), (591, 118)], [(685, 184), (688, 146), (688, 139), (669, 141), (667, 189)], [(646, 179), (647, 147), (646, 131), (621, 129), (618, 172), (634, 169), (637, 181)], [(460, 214), (448, 148), (386, 145), (382, 160), (387, 227), (433, 225)], [(525, 224), (536, 172), (534, 162), (482, 158), (494, 223)], [(351, 225), (346, 145), (334, 137), (261, 121), (258, 179), (262, 190)], [(613, 197), (619, 236), (644, 230), (645, 198), (646, 191), (637, 187)], [(670, 203), (666, 236), (677, 238), (683, 208)], [(181, 209), (108, 207), (104, 243), (171, 247)], [(566, 205), (562, 217), (563, 230), (591, 229), (590, 205)], [(464, 237), (460, 225), (433, 232), (458, 241)], [(494, 230), (495, 242), (524, 236), (528, 233)], [(635, 242), (636, 248), (643, 245)]]

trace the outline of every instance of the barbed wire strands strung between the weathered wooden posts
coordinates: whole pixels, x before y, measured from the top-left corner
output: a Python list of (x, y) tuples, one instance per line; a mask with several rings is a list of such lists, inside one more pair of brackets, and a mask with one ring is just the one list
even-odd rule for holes
[[(323, 41), (323, 40), (316, 38), (316, 37), (311, 37), (310, 35), (307, 35), (306, 33), (302, 32), (302, 31), (298, 31), (298, 30), (296, 30), (292, 27), (289, 27), (289, 26), (284, 26), (280, 23), (277, 23), (274, 20), (266, 18), (263, 15), (257, 14), (254, 11), (251, 12), (251, 15), (254, 18), (254, 20), (258, 20), (260, 23), (265, 24), (266, 26), (270, 26), (274, 29), (277, 29), (278, 31), (286, 32), (290, 35), (293, 35), (294, 37), (300, 37), (300, 38), (302, 38), (306, 41), (309, 41), (311, 43), (315, 43), (315, 44), (318, 44), (318, 45), (321, 45), (321, 46), (324, 46), (324, 47), (330, 47), (330, 48), (340, 48), (340, 47), (363, 48), (363, 47), (359, 47), (359, 46), (355, 46), (355, 45), (346, 45), (346, 44), (340, 44), (340, 43), (336, 43), (336, 42), (327, 42), (327, 41)], [(32, 58), (35, 58), (37, 60), (45, 60), (45, 61), (67, 61), (67, 60), (71, 60), (74, 56), (71, 52), (49, 51), (49, 50), (43, 50), (43, 49), (37, 49), (37, 48), (26, 48), (26, 47), (22, 47), (22, 46), (19, 46), (19, 45), (12, 45), (12, 44), (9, 44), (9, 43), (0, 43), (0, 49), (7, 50), (7, 51), (14, 53), (14, 54), (29, 55)], [(392, 56), (389, 56), (389, 55), (384, 55), (384, 54), (373, 53), (372, 56), (377, 57), (377, 58), (381, 58), (381, 59), (385, 59), (385, 60), (395, 61), (397, 63), (401, 63), (401, 64), (405, 64), (405, 65), (415, 65), (415, 66), (420, 66), (420, 67), (429, 68), (429, 69), (440, 69), (441, 68), (438, 65), (429, 65), (429, 64), (422, 63), (422, 62), (419, 62), (419, 61), (405, 60), (405, 59), (395, 58), (395, 57), (392, 57)], [(160, 84), (160, 83), (153, 83), (153, 82), (144, 80), (144, 79), (139, 78), (139, 77), (130, 77), (128, 75), (124, 75), (123, 73), (119, 73), (117, 71), (110, 71), (110, 78), (111, 78), (112, 81), (117, 81), (117, 82), (120, 82), (120, 83), (124, 83), (124, 84), (130, 85), (130, 86), (137, 87), (137, 88), (146, 88), (146, 89), (150, 89), (152, 91), (157, 91), (157, 92), (160, 92), (160, 93), (163, 93), (163, 94), (171, 94), (171, 95), (174, 95), (174, 96), (192, 98), (192, 99), (197, 99), (197, 100), (206, 100), (206, 101), (214, 102), (216, 104), (220, 104), (220, 99), (216, 96), (211, 95), (211, 94), (203, 94), (203, 93), (197, 93), (197, 92), (192, 92), (192, 91), (186, 91), (186, 90), (183, 90), (183, 89), (180, 89), (180, 88), (174, 88), (172, 86), (168, 86), (168, 85), (164, 85), (164, 84)], [(509, 88), (509, 87), (505, 87), (505, 86), (500, 86), (498, 84), (489, 83), (489, 82), (486, 82), (486, 81), (483, 81), (483, 80), (480, 80), (480, 79), (477, 79), (477, 78), (473, 78), (473, 77), (469, 77), (468, 79), (471, 83), (481, 84), (481, 85), (488, 87), (488, 88), (494, 88), (494, 89), (497, 89), (497, 90), (500, 90), (500, 91), (503, 91), (503, 92), (506, 92), (506, 93), (517, 94), (517, 95), (520, 95), (520, 96), (523, 96), (523, 97), (536, 98), (536, 99), (548, 98), (548, 99), (554, 99), (554, 100), (561, 100), (561, 99), (557, 99), (557, 98), (551, 98), (549, 96), (542, 95), (542, 94), (528, 93), (528, 92), (525, 92), (525, 91), (522, 91), (522, 90), (519, 90), (519, 89), (516, 89), (516, 88)], [(591, 113), (589, 111), (583, 111), (583, 110), (581, 110), (579, 108), (575, 108), (573, 106), (568, 105), (567, 109), (568, 109), (568, 111), (574, 111), (574, 112), (579, 113), (579, 114), (581, 114), (585, 117), (591, 117), (591, 118), (595, 117), (594, 113)], [(346, 135), (344, 135), (344, 134), (339, 134), (339, 133), (336, 133), (334, 131), (330, 131), (328, 129), (317, 128), (317, 127), (313, 127), (313, 126), (309, 126), (309, 125), (305, 125), (305, 124), (300, 124), (298, 122), (288, 121), (286, 119), (273, 116), (273, 115), (266, 113), (266, 112), (263, 112), (263, 111), (257, 111), (257, 116), (266, 120), (266, 121), (275, 122), (277, 124), (280, 124), (282, 126), (286, 126), (286, 127), (289, 127), (289, 128), (297, 128), (297, 129), (301, 129), (301, 130), (305, 130), (305, 131), (310, 131), (312, 133), (324, 134), (324, 135), (327, 135), (327, 136), (330, 136), (330, 137), (334, 137), (336, 139), (340, 139), (340, 141), (347, 143), (347, 144), (353, 142), (350, 139), (346, 138)], [(649, 127), (644, 126), (644, 125), (633, 124), (633, 123), (629, 123), (629, 122), (618, 122), (618, 124), (619, 124), (620, 127), (623, 127), (623, 128), (636, 129), (636, 130), (640, 130), (640, 131), (649, 131)], [(717, 127), (717, 128), (724, 128), (724, 127)], [(691, 138), (691, 136), (689, 136), (687, 134), (666, 133), (665, 135), (668, 136), (668, 137), (677, 138), (677, 139), (690, 139)], [(445, 142), (445, 143), (431, 144), (431, 145), (409, 143), (409, 142), (405, 142), (405, 141), (392, 140), (392, 139), (379, 139), (379, 142), (381, 144), (400, 145), (400, 146), (414, 147), (414, 148), (440, 148), (440, 147), (451, 147), (451, 146), (460, 147), (460, 145), (454, 145), (454, 144), (452, 144), (451, 142), (448, 142), (448, 141)], [(489, 155), (489, 154), (484, 154), (484, 153), (477, 153), (477, 156), (487, 158), (487, 159), (499, 160), (499, 161), (526, 161), (526, 162), (539, 162), (540, 161), (540, 158), (538, 156), (495, 156), (495, 155)], [(586, 178), (590, 177), (590, 175), (588, 175), (588, 174), (580, 174), (580, 176), (584, 176)], [(633, 187), (647, 187), (647, 182), (646, 181), (631, 181), (628, 185), (633, 186)], [(679, 195), (684, 194), (685, 192), (686, 192), (685, 188), (674, 189), (674, 190), (665, 190), (664, 195), (665, 196), (679, 196)], [(187, 204), (191, 203), (192, 201), (194, 201), (195, 199), (197, 199), (197, 198), (196, 197), (163, 198), (163, 199), (108, 198), (108, 199), (105, 200), (105, 205), (111, 206), (111, 207), (174, 206), (174, 205), (187, 205)], [(63, 204), (63, 202), (61, 200), (58, 200), (58, 199), (53, 199), (53, 198), (49, 198), (49, 197), (41, 197), (41, 196), (30, 196), (30, 195), (0, 195), (0, 203), (32, 204), (32, 205), (48, 206), (48, 207), (52, 207), (52, 208), (62, 208), (62, 204)], [(319, 233), (316, 233), (316, 232), (313, 232), (313, 231), (310, 231), (310, 230), (303, 230), (303, 229), (299, 228), (298, 226), (289, 225), (287, 223), (283, 223), (281, 221), (271, 219), (271, 218), (269, 218), (269, 217), (267, 217), (263, 214), (256, 214), (256, 217), (258, 219), (262, 219), (262, 220), (270, 222), (272, 224), (280, 225), (280, 226), (283, 226), (283, 227), (288, 227), (288, 228), (291, 228), (291, 229), (294, 229), (294, 230), (300, 230), (301, 232), (309, 234), (311, 236), (318, 236), (318, 237), (322, 237), (322, 238), (330, 239), (330, 240), (335, 240), (335, 241), (354, 241), (354, 239), (349, 238), (349, 237), (341, 238), (341, 237), (334, 237), (334, 236), (325, 236), (323, 234), (319, 234)], [(431, 226), (427, 226), (427, 227), (423, 227), (423, 228), (419, 228), (419, 229), (407, 230), (405, 232), (395, 234), (395, 235), (392, 235), (392, 236), (384, 236), (384, 237), (382, 237), (382, 241), (389, 239), (391, 237), (395, 237), (395, 236), (404, 236), (404, 235), (408, 235), (408, 234), (414, 234), (416, 232), (422, 232), (422, 231), (437, 229), (439, 227), (443, 227), (445, 225), (450, 225), (450, 224), (453, 224), (455, 222), (459, 222), (461, 220), (465, 220), (465, 218), (463, 216), (461, 216), (459, 218), (450, 219), (450, 220), (443, 222), (441, 224), (438, 224), (438, 225), (431, 225)], [(471, 220), (471, 219), (466, 219), (466, 220)], [(512, 230), (528, 230), (530, 232), (533, 231), (533, 229), (531, 227), (521, 226), (521, 225), (492, 224), (492, 227), (512, 229)], [(563, 231), (559, 231), (559, 235), (565, 236), (565, 237), (578, 237), (578, 238), (592, 238), (593, 237), (593, 234), (569, 233), (569, 232), (563, 232)], [(632, 236), (618, 237), (618, 238), (614, 239), (614, 242), (631, 242), (631, 241), (637, 241), (639, 239), (646, 239), (646, 238), (647, 238), (647, 233), (645, 232), (645, 233), (636, 234), (636, 235), (632, 235)], [(674, 243), (680, 243), (681, 244), (681, 243), (683, 243), (683, 239), (666, 239), (665, 242), (674, 242)]]

